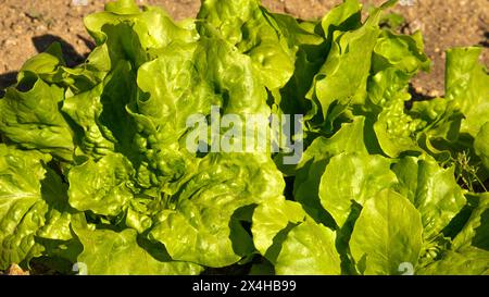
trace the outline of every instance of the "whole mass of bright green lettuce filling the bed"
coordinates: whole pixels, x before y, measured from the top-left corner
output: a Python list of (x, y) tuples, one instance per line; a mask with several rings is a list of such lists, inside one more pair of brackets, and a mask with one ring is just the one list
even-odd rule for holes
[[(488, 274), (481, 49), (448, 50), (444, 98), (412, 100), (430, 61), (421, 33), (379, 25), (396, 2), (365, 21), (358, 0), (318, 21), (259, 0), (87, 16), (84, 63), (54, 44), (0, 99), (0, 270)], [(212, 107), (304, 115), (300, 162), (187, 150)]]

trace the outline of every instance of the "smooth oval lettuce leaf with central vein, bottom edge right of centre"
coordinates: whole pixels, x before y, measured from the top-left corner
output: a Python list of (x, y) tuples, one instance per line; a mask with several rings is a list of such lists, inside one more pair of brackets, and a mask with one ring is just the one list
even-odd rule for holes
[(384, 190), (366, 201), (350, 240), (351, 255), (364, 274), (400, 274), (416, 265), (422, 248), (419, 212), (403, 196)]

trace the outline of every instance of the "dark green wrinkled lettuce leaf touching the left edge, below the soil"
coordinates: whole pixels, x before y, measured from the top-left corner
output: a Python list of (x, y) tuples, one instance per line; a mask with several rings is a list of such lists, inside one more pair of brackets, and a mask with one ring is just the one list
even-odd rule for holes
[(62, 88), (45, 83), (35, 73), (25, 73), (0, 100), (0, 132), (27, 149), (72, 160), (74, 133), (60, 112), (63, 99)]

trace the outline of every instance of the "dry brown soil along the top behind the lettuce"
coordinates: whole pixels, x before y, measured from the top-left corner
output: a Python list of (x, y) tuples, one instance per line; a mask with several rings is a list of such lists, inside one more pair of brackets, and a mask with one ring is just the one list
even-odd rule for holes
[[(86, 3), (77, 5), (76, 3)], [(52, 41), (61, 41), (67, 63), (75, 65), (93, 47), (83, 17), (101, 11), (108, 1), (98, 0), (0, 0), (0, 89), (15, 83), (16, 71)], [(141, 4), (163, 7), (176, 20), (193, 17), (200, 0), (147, 0)], [(263, 0), (274, 12), (301, 18), (318, 18), (341, 0)], [(379, 4), (384, 0), (362, 0)], [(484, 47), (482, 62), (489, 62), (488, 0), (403, 0), (393, 10), (404, 15), (405, 33), (421, 29), (426, 52), (432, 60), (430, 74), (421, 74), (413, 90), (421, 96), (443, 95), (444, 50), (455, 46)]]

